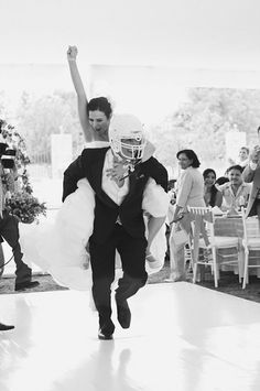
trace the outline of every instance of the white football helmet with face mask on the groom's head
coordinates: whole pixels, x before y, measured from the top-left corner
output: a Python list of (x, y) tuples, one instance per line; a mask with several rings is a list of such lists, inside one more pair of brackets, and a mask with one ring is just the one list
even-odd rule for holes
[(109, 128), (109, 141), (115, 154), (128, 161), (141, 160), (145, 139), (141, 122), (133, 116), (121, 115)]

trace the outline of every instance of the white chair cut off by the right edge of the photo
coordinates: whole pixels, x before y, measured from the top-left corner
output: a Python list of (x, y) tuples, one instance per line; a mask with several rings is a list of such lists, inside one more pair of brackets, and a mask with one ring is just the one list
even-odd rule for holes
[(245, 265), (243, 265), (243, 281), (242, 289), (245, 290), (246, 284), (249, 282), (249, 269), (260, 268), (260, 263), (249, 263), (250, 260), (260, 260), (259, 253), (256, 254), (256, 251), (260, 251), (260, 229), (259, 229), (259, 219), (258, 216), (252, 216), (246, 218), (246, 209), (242, 208), (242, 226), (243, 226), (243, 239), (242, 246), (245, 249)]

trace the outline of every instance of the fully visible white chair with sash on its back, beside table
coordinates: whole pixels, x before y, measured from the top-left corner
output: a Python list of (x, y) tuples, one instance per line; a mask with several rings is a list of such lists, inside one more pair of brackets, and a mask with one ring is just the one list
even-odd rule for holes
[[(218, 265), (228, 264), (237, 265), (239, 282), (241, 282), (241, 267), (240, 260), (238, 257), (239, 241), (236, 237), (221, 237), (215, 236), (214, 233), (214, 215), (212, 207), (192, 207), (188, 206), (187, 210), (189, 213), (192, 228), (193, 228), (193, 283), (197, 279), (197, 265), (210, 265), (214, 274), (215, 287), (218, 286)], [(199, 260), (199, 249), (203, 249), (205, 252), (209, 250), (207, 260)], [(232, 253), (224, 254), (219, 253), (220, 249), (230, 249), (235, 250)], [(236, 259), (234, 259), (236, 257)], [(218, 261), (220, 259), (220, 261)]]

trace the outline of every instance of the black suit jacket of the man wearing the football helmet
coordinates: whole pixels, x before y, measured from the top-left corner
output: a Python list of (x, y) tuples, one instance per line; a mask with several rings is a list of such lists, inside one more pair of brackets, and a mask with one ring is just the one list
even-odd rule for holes
[[(109, 148), (85, 149), (65, 171), (63, 182), (63, 200), (77, 188), (77, 182), (86, 177), (95, 192), (95, 219), (93, 239), (104, 243), (120, 221), (132, 237), (143, 237), (144, 221), (142, 210), (143, 191), (149, 177), (167, 191), (167, 172), (156, 159), (138, 164), (129, 176), (129, 193), (121, 205), (117, 205), (101, 188), (102, 167)], [(87, 218), (87, 216), (86, 216)]]

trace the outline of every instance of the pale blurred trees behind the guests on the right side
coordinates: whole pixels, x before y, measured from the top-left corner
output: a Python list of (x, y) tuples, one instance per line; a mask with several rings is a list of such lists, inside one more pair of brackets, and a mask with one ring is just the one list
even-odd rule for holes
[(205, 165), (225, 162), (225, 133), (236, 124), (247, 133), (249, 146), (257, 142), (260, 91), (230, 88), (192, 88), (188, 101), (150, 130), (156, 154), (175, 165), (181, 149), (193, 149)]

